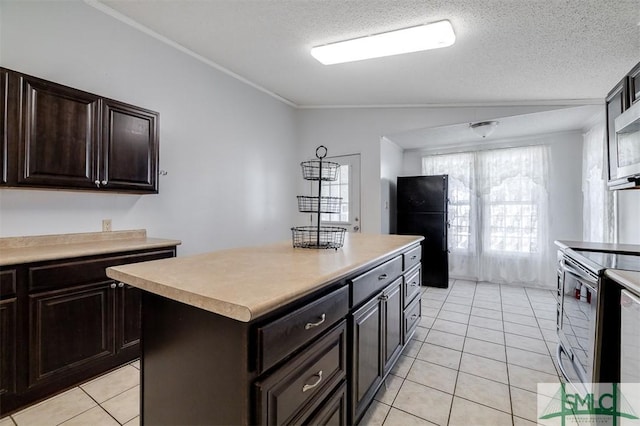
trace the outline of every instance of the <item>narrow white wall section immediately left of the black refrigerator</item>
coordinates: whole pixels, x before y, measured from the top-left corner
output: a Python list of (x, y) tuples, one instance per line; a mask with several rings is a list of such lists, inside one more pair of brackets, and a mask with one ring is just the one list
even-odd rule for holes
[(402, 174), (403, 150), (387, 138), (380, 140), (380, 232), (396, 232), (396, 178)]

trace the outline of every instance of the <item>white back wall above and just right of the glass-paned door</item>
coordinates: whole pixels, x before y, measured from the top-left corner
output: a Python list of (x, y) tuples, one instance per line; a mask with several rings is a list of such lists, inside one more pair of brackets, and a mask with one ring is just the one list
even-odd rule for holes
[[(560, 106), (451, 108), (326, 108), (297, 111), (299, 159), (319, 145), (330, 155), (361, 154), (362, 231), (380, 233), (384, 208), (380, 191), (380, 140), (383, 136), (426, 127), (529, 114)], [(417, 174), (420, 174), (419, 172)], [(383, 227), (385, 225), (382, 225)]]

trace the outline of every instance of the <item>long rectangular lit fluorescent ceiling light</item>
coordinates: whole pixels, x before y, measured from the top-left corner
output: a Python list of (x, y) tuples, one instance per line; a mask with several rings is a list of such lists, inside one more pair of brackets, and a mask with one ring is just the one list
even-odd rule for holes
[(324, 65), (332, 65), (438, 49), (451, 46), (455, 41), (451, 22), (444, 20), (317, 46), (311, 49), (311, 55)]

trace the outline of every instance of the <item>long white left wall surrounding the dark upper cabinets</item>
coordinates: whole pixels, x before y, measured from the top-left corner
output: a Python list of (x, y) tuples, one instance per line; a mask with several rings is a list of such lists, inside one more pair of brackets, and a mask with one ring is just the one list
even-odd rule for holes
[(83, 2), (2, 2), (0, 64), (160, 112), (158, 195), (0, 190), (0, 236), (146, 228), (180, 254), (290, 238), (295, 111)]

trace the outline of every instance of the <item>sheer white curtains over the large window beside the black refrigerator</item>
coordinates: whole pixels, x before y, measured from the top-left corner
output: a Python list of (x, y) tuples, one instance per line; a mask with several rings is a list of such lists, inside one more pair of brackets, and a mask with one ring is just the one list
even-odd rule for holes
[(451, 276), (551, 285), (548, 164), (547, 146), (423, 158), (424, 174), (450, 176)]

